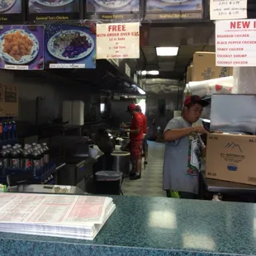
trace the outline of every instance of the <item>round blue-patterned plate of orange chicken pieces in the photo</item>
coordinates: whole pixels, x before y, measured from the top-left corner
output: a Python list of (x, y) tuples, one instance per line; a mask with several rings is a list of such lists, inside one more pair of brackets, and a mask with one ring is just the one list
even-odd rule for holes
[(9, 64), (28, 64), (39, 53), (39, 42), (32, 33), (12, 29), (0, 36), (0, 58)]

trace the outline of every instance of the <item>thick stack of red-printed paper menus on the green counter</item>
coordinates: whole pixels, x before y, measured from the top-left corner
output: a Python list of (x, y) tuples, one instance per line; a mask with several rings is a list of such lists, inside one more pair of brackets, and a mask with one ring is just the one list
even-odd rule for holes
[(115, 208), (111, 197), (1, 193), (0, 232), (94, 239)]

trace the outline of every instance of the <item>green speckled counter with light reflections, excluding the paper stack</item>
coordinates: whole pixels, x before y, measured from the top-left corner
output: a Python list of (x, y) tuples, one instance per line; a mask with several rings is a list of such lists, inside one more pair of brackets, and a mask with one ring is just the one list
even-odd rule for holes
[(256, 205), (114, 196), (93, 241), (2, 233), (1, 255), (255, 255)]

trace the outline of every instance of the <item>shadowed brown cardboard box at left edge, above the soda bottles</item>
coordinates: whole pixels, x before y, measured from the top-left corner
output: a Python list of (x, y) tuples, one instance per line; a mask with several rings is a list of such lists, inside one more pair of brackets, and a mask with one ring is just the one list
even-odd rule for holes
[(0, 116), (18, 116), (18, 88), (0, 84)]

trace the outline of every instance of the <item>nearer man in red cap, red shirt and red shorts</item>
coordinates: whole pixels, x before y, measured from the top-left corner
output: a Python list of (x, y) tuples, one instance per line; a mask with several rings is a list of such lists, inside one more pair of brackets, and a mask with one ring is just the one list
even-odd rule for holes
[(132, 116), (130, 129), (126, 130), (130, 132), (130, 159), (132, 162), (130, 179), (139, 179), (141, 177), (141, 152), (144, 131), (143, 120), (134, 103), (128, 106), (127, 111)]

